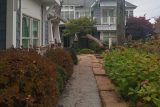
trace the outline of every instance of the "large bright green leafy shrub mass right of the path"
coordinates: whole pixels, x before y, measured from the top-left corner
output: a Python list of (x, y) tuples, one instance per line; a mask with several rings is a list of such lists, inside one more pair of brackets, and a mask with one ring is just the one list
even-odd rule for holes
[(117, 49), (104, 55), (106, 74), (134, 107), (160, 106), (160, 55)]

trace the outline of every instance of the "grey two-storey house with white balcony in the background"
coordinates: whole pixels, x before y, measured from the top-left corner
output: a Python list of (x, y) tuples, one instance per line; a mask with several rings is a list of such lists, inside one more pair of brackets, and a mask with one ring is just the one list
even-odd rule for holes
[(124, 0), (64, 0), (61, 16), (66, 19), (86, 16), (96, 20), (98, 38), (113, 44), (118, 39), (123, 39), (119, 37), (125, 35), (125, 20), (133, 16), (136, 9), (135, 5), (123, 2)]

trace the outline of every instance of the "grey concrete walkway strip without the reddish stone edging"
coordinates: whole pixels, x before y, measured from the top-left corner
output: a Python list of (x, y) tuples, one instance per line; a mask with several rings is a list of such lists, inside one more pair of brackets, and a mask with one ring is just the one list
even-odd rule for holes
[(79, 56), (79, 64), (69, 80), (58, 107), (102, 107), (92, 69), (93, 55)]

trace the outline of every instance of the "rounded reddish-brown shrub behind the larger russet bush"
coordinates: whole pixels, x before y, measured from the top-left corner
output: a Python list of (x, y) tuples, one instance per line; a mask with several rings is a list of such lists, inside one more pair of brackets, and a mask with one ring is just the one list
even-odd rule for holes
[(50, 49), (50, 50), (47, 50), (47, 52), (45, 53), (45, 56), (51, 59), (57, 65), (63, 67), (66, 70), (68, 77), (72, 75), (73, 62), (69, 52), (67, 52), (62, 48)]

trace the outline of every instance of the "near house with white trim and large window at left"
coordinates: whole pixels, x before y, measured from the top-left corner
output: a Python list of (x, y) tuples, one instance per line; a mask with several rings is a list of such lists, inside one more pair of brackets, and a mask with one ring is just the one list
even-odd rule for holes
[(55, 0), (0, 0), (0, 49), (39, 47), (54, 43), (48, 19)]

